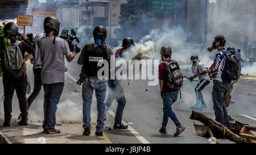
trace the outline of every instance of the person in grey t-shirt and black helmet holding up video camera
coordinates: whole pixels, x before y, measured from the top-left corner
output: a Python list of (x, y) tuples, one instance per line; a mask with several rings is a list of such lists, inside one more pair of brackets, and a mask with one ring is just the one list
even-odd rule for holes
[(37, 41), (42, 60), (41, 79), (44, 88), (44, 132), (60, 133), (55, 128), (57, 104), (63, 91), (65, 81), (65, 61), (71, 62), (76, 56), (76, 47), (70, 54), (66, 40), (57, 37), (60, 29), (59, 19), (51, 16), (44, 19), (46, 37)]

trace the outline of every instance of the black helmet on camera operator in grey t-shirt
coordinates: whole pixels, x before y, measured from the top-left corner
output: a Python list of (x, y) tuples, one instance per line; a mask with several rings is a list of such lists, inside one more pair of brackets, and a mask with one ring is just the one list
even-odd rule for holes
[(60, 20), (57, 19), (54, 16), (48, 16), (44, 19), (44, 31), (55, 31), (57, 34), (59, 34), (60, 31)]

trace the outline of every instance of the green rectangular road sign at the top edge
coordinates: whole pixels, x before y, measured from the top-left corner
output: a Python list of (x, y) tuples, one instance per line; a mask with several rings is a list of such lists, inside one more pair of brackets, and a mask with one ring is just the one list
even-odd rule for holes
[(174, 11), (174, 0), (150, 0), (151, 11)]

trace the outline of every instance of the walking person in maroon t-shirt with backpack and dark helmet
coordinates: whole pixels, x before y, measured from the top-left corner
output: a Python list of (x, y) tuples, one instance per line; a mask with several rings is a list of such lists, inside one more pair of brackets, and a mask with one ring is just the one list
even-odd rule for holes
[[(175, 60), (171, 60), (172, 49), (171, 47), (164, 46), (160, 50), (160, 55), (163, 63), (159, 65), (159, 86), (161, 98), (163, 99), (163, 123), (162, 128), (160, 128), (160, 133), (167, 133), (166, 126), (168, 119), (171, 118), (176, 125), (176, 133), (174, 136), (178, 136), (184, 131), (185, 127), (181, 125), (177, 119), (176, 114), (172, 110), (172, 104), (177, 100), (179, 94), (179, 89), (182, 86), (183, 76), (180, 72), (179, 64)], [(172, 71), (170, 72), (170, 68)], [(170, 77), (174, 77), (171, 78)], [(175, 81), (171, 82), (171, 81)]]

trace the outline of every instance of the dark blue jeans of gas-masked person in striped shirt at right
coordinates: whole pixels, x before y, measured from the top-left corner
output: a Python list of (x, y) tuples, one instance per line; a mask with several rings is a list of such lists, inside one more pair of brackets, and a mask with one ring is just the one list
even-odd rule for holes
[(212, 88), (213, 110), (215, 120), (221, 124), (229, 123), (228, 112), (225, 106), (226, 94), (230, 89), (230, 83), (214, 81)]

